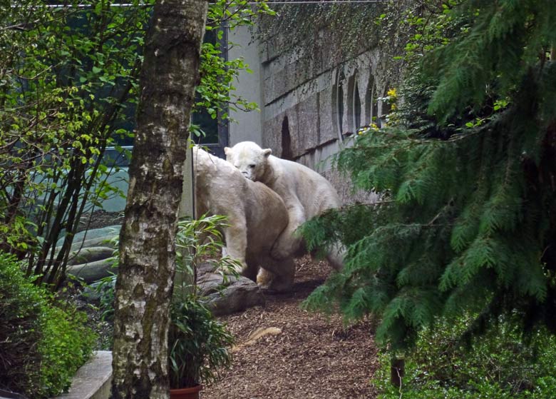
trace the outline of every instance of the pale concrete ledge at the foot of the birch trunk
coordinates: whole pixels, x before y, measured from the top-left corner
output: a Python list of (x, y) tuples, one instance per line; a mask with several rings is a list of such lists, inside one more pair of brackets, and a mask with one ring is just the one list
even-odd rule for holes
[(112, 352), (99, 350), (73, 377), (67, 393), (52, 399), (108, 399), (112, 382)]

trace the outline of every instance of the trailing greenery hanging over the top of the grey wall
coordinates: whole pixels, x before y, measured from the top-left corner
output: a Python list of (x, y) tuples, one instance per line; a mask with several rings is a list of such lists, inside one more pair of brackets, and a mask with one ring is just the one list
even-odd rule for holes
[[(297, 63), (306, 68), (331, 63), (349, 64), (362, 51), (379, 49), (381, 79), (390, 84), (400, 79), (404, 46), (414, 26), (404, 24), (407, 15), (420, 12), (421, 0), (390, 1), (376, 4), (284, 4), (273, 6), (278, 17), (262, 16), (257, 38), (267, 42), (270, 59), (293, 56), (304, 49)], [(370, 66), (369, 66), (370, 67)], [(303, 68), (297, 68), (301, 71)], [(298, 72), (299, 73), (299, 72)]]

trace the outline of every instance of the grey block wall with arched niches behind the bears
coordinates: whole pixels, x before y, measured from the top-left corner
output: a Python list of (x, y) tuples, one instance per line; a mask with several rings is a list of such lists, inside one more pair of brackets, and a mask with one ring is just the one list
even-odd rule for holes
[[(350, 145), (357, 128), (372, 122), (380, 126), (388, 112), (378, 100), (389, 85), (379, 49), (338, 59), (326, 28), (315, 37), (312, 49), (292, 48), (279, 35), (258, 44), (262, 138), (254, 141), (324, 174), (345, 203), (374, 201), (373, 195), (351, 191), (349, 179), (331, 169), (331, 157)], [(243, 130), (237, 129), (230, 141), (245, 139)]]

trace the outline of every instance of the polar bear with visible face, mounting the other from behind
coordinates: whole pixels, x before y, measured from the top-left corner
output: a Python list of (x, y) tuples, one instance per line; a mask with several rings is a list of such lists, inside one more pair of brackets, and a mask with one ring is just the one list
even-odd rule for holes
[[(224, 151), (226, 160), (243, 176), (272, 188), (286, 204), (288, 226), (272, 248), (272, 256), (282, 259), (306, 252), (302, 238), (294, 232), (310, 218), (341, 206), (334, 187), (307, 166), (272, 156), (270, 148), (262, 149), (252, 141), (242, 141), (232, 148), (225, 147)], [(341, 268), (343, 261), (337, 248), (331, 249), (326, 258), (331, 266)]]

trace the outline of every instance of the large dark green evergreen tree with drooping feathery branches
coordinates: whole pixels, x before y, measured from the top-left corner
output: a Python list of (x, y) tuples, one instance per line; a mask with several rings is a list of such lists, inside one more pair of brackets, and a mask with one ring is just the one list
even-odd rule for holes
[(398, 126), (369, 128), (336, 158), (383, 201), (303, 231), (309, 246), (347, 248), (307, 307), (379, 315), (393, 350), (463, 312), (478, 315), (470, 333), (504, 314), (556, 332), (556, 2), (444, 8), (457, 34), (408, 74)]

